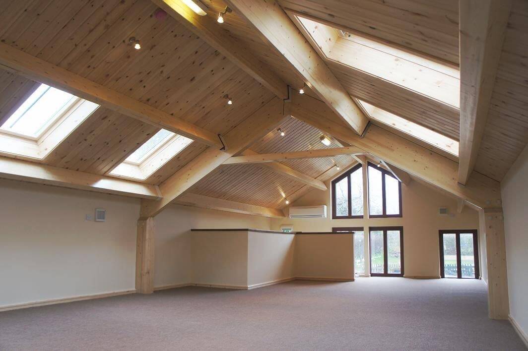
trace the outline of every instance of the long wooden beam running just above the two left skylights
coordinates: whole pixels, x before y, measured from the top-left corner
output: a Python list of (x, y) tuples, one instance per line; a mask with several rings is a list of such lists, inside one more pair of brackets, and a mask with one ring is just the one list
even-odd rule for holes
[(67, 91), (80, 98), (120, 112), (149, 125), (164, 128), (201, 143), (222, 148), (218, 135), (158, 110), (101, 84), (88, 80), (21, 50), (0, 43), (0, 68), (7, 67), (26, 78)]

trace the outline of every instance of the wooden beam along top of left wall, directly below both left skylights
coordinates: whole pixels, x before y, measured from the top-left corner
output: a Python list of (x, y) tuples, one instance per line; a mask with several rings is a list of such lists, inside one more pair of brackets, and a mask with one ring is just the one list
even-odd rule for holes
[(131, 197), (159, 200), (161, 193), (155, 185), (125, 181), (21, 159), (0, 156), (0, 178), (71, 189), (88, 190)]

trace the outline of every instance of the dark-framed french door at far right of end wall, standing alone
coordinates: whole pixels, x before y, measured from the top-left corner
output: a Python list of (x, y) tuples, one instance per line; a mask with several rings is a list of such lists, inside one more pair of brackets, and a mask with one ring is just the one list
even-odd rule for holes
[(440, 230), (440, 276), (478, 279), (476, 230)]

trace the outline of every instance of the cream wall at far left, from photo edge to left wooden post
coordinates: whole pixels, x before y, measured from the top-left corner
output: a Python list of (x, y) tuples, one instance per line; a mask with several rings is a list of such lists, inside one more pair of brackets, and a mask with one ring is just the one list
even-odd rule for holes
[[(0, 180), (0, 306), (135, 289), (139, 201)], [(89, 222), (96, 207), (106, 222)]]

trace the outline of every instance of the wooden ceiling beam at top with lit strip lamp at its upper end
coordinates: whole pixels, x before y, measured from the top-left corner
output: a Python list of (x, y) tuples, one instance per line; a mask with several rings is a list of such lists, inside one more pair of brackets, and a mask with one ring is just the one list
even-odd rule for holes
[(253, 56), (245, 45), (237, 41), (228, 31), (216, 23), (214, 18), (197, 15), (181, 0), (152, 0), (152, 2), (181, 22), (188, 30), (194, 32), (214, 49), (225, 55), (277, 97), (281, 99), (288, 98), (287, 84), (274, 71)]

